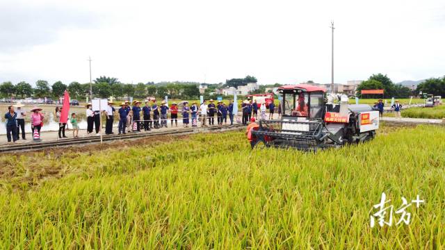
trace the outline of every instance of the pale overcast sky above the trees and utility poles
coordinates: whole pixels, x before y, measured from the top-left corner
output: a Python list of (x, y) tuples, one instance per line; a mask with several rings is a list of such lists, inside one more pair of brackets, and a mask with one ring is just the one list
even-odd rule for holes
[(0, 0), (0, 82), (445, 75), (445, 1)]

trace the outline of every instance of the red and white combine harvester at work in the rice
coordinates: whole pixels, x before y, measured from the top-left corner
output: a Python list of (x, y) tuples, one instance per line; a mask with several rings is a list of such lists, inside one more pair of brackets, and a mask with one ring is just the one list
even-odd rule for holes
[(379, 127), (378, 111), (366, 104), (348, 104), (335, 95), (325, 101), (324, 88), (314, 85), (285, 85), (278, 88), (282, 97), (282, 119), (260, 120), (252, 131), (252, 149), (263, 147), (296, 148), (318, 151), (345, 144), (365, 142), (375, 137)]

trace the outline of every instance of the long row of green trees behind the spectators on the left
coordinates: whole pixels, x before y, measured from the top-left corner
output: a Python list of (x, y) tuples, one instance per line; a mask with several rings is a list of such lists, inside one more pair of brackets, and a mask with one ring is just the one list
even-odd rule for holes
[[(148, 83), (121, 83), (118, 78), (101, 76), (91, 83), (93, 97), (100, 98), (145, 98), (168, 96), (171, 99), (199, 99), (199, 83), (163, 82), (162, 84)], [(72, 99), (86, 99), (90, 94), (90, 83), (79, 83), (73, 81), (66, 85), (61, 81), (56, 81), (49, 85), (47, 81), (39, 80), (35, 82), (35, 87), (24, 81), (13, 84), (10, 81), (0, 85), (0, 97), (24, 99), (26, 97), (44, 98), (52, 97), (58, 99), (63, 96), (63, 92), (68, 90)]]

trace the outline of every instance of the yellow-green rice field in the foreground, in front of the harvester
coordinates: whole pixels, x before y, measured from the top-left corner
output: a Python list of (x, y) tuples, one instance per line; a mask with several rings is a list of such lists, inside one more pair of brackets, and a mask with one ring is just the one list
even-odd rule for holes
[[(3, 155), (14, 171), (0, 177), (0, 248), (443, 249), (443, 138), (439, 126), (383, 127), (302, 153), (252, 151), (239, 131)], [(371, 227), (382, 192), (394, 222)]]

